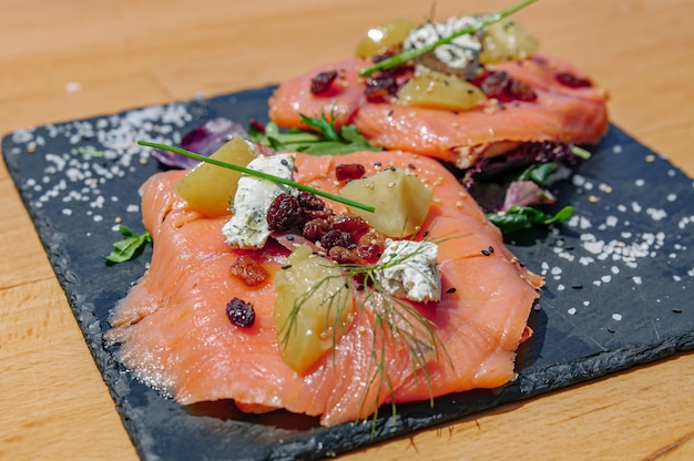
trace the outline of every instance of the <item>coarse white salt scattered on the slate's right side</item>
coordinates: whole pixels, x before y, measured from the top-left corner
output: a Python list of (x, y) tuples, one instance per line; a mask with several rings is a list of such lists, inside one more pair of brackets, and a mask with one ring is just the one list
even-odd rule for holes
[[(613, 153), (621, 152), (621, 146), (614, 146)], [(659, 160), (663, 157), (654, 155), (650, 163), (656, 164)], [(674, 170), (670, 170), (666, 174), (674, 176), (673, 172)], [(662, 264), (666, 259), (676, 262), (687, 250), (686, 245), (680, 242), (681, 236), (677, 233), (660, 230), (667, 228), (663, 227), (664, 223), (669, 223), (666, 225), (672, 228), (671, 214), (676, 215), (681, 212), (682, 207), (677, 206), (677, 202), (682, 194), (655, 193), (649, 184), (653, 180), (645, 176), (632, 181), (630, 187), (643, 189), (643, 195), (629, 195), (631, 199), (614, 203), (614, 197), (619, 196), (615, 195), (614, 185), (595, 182), (590, 175), (575, 174), (571, 178), (574, 187), (572, 193), (583, 198), (583, 205), (573, 201), (579, 206), (575, 207), (572, 217), (563, 223), (560, 229), (551, 230), (550, 236), (555, 238), (551, 254), (560, 260), (590, 268), (593, 276), (588, 280), (576, 280), (571, 265), (557, 266), (555, 263), (551, 263), (555, 259), (549, 258), (539, 263), (539, 273), (545, 277), (545, 289), (555, 294), (558, 307), (562, 306), (560, 299), (565, 297), (565, 304), (569, 304), (568, 308), (564, 307), (565, 315), (600, 316), (601, 308), (604, 309), (606, 306), (599, 303), (596, 308), (589, 308), (591, 303), (588, 299), (599, 300), (602, 296), (615, 296), (615, 289), (630, 289), (623, 280), (630, 283), (631, 290), (641, 290), (642, 285), (650, 281), (650, 278), (640, 274), (642, 266), (645, 274), (650, 274), (653, 267), (651, 260), (660, 262), (655, 264)], [(666, 182), (657, 181), (659, 184)], [(674, 224), (677, 229), (687, 229), (694, 225), (694, 215), (678, 217)], [(691, 284), (686, 277), (694, 277), (694, 269), (686, 270), (686, 275), (681, 269), (677, 270), (680, 272), (669, 277), (672, 283), (681, 283), (682, 289), (686, 289)], [(578, 273), (585, 274), (585, 270), (581, 269)], [(614, 287), (610, 288), (612, 284)], [(567, 289), (568, 286), (571, 287), (570, 290)], [(606, 291), (601, 295), (601, 290)], [(581, 296), (585, 296), (582, 309), (576, 305), (581, 303)], [(661, 301), (664, 303), (660, 298), (652, 299), (651, 306)], [(649, 303), (646, 298), (643, 298), (643, 303), (646, 303), (644, 305), (646, 308)], [(620, 321), (625, 318), (624, 315), (625, 313), (613, 311), (606, 314), (604, 321)], [(605, 330), (615, 332), (613, 327)]]

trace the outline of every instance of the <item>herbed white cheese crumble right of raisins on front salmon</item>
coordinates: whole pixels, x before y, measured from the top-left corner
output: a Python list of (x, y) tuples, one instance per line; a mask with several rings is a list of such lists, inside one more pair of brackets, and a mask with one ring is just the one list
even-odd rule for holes
[(376, 278), (392, 296), (414, 301), (438, 301), (441, 275), (437, 269), (439, 248), (432, 242), (386, 239)]

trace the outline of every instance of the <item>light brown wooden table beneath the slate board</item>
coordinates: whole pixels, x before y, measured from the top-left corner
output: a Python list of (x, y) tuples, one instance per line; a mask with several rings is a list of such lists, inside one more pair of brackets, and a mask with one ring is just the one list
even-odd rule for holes
[[(0, 131), (275, 83), (431, 1), (0, 0)], [(510, 6), (437, 0), (436, 18)], [(612, 120), (694, 175), (694, 2), (541, 0), (542, 48), (611, 93)], [(135, 459), (4, 164), (0, 459)], [(694, 355), (346, 459), (694, 459)]]

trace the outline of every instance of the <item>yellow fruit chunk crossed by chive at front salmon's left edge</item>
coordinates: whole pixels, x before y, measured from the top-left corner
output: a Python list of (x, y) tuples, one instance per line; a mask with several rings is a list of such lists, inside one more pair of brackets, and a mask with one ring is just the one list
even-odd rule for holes
[[(210, 157), (246, 166), (256, 154), (243, 137), (234, 137)], [(231, 201), (236, 194), (241, 174), (234, 170), (201, 163), (176, 183), (174, 192), (205, 216), (226, 215), (231, 213)]]

